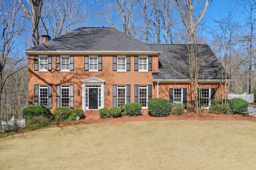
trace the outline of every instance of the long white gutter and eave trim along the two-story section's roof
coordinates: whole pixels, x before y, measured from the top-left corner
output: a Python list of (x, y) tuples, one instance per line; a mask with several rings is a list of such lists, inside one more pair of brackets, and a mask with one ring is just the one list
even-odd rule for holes
[(115, 55), (128, 55), (128, 54), (137, 54), (137, 55), (158, 55), (163, 53), (163, 51), (23, 51), (27, 54), (93, 54), (93, 55), (104, 55), (104, 54), (115, 54)]

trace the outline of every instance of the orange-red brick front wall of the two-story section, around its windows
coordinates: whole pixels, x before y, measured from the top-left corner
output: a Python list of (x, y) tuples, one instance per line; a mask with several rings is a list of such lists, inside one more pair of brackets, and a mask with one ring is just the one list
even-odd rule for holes
[[(72, 54), (70, 54), (72, 55)], [(74, 84), (74, 108), (82, 108), (82, 80), (95, 76), (105, 80), (104, 85), (104, 105), (105, 107), (113, 106), (113, 84), (130, 84), (131, 96), (130, 102), (134, 102), (134, 85), (152, 84), (152, 72), (158, 72), (158, 56), (152, 56), (152, 71), (138, 72), (134, 71), (134, 56), (130, 56), (130, 71), (116, 72), (113, 71), (113, 56), (114, 55), (100, 55), (102, 56), (102, 71), (89, 72), (84, 71), (84, 55), (74, 56), (74, 71), (61, 72), (56, 71), (56, 55), (52, 55), (52, 71), (40, 72), (34, 71), (34, 55), (29, 55), (29, 104), (34, 104), (34, 84), (52, 84), (52, 109), (56, 108), (56, 84)], [(59, 56), (59, 55), (57, 55)], [(77, 94), (78, 88), (80, 89), (80, 96)], [(110, 95), (107, 95), (107, 89), (110, 90)], [(152, 98), (155, 98), (152, 94)]]

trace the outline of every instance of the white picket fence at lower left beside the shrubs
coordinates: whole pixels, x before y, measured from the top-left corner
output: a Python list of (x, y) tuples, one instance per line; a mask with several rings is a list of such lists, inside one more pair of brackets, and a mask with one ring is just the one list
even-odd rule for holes
[(18, 127), (24, 127), (26, 125), (26, 121), (25, 119), (14, 119), (13, 116), (12, 119), (8, 121), (0, 121), (0, 133), (10, 130), (15, 124)]

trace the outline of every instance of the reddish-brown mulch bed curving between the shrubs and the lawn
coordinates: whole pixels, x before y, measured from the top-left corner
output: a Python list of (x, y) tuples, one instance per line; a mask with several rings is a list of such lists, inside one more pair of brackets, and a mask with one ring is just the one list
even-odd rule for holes
[(207, 121), (253, 121), (256, 122), (256, 117), (243, 116), (243, 115), (226, 115), (214, 113), (184, 113), (182, 115), (169, 115), (167, 117), (152, 117), (148, 114), (140, 115), (137, 117), (118, 117), (108, 119), (81, 119), (79, 121), (65, 122), (56, 125), (55, 127), (65, 127), (79, 124), (89, 123), (116, 123), (116, 122), (129, 122), (129, 121), (166, 121), (166, 120), (207, 120)]

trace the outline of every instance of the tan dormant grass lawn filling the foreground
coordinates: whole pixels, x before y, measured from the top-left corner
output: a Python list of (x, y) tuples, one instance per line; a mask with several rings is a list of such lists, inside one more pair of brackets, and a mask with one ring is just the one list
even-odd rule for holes
[(0, 139), (0, 169), (256, 169), (256, 123), (140, 121)]

